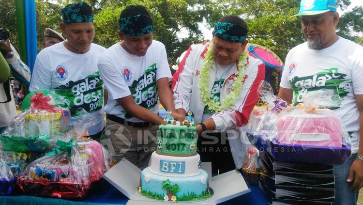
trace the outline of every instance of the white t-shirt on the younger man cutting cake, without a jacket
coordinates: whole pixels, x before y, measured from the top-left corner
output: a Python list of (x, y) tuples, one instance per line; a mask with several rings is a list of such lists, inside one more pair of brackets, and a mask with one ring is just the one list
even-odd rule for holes
[(171, 80), (165, 46), (153, 40), (144, 56), (128, 53), (120, 43), (109, 47), (98, 62), (98, 68), (108, 92), (105, 107), (107, 114), (116, 115), (130, 122), (143, 122), (131, 116), (116, 99), (132, 95), (137, 105), (157, 114), (158, 94), (156, 81)]

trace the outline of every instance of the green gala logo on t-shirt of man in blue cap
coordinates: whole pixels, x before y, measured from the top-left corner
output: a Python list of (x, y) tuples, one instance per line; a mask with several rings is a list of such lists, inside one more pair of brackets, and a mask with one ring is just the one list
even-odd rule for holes
[[(299, 78), (295, 76), (290, 80), (293, 99), (292, 104), (297, 105), (302, 102), (302, 96), (311, 91), (317, 91), (325, 88), (332, 90), (335, 94), (338, 94), (342, 99), (348, 95), (348, 89), (352, 86), (351, 79), (345, 79), (347, 75), (338, 72), (338, 68), (326, 69), (323, 72), (319, 72), (313, 76), (306, 76)], [(332, 110), (339, 107), (330, 108)]]

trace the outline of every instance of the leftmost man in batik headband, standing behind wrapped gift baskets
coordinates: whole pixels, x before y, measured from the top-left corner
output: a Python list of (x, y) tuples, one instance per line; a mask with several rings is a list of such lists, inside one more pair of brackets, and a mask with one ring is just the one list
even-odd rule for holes
[(67, 40), (39, 52), (30, 82), (30, 91), (48, 89), (58, 94), (71, 111), (72, 124), (82, 119), (83, 111), (97, 119), (88, 130), (98, 138), (105, 126), (103, 81), (97, 68), (106, 48), (93, 44), (94, 27), (91, 6), (75, 3), (61, 10), (61, 30)]

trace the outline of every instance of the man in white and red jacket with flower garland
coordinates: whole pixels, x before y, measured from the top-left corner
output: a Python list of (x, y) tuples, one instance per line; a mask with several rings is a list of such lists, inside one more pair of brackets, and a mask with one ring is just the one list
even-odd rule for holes
[(198, 134), (214, 130), (199, 135), (197, 144), (201, 160), (212, 161), (212, 173), (242, 168), (242, 141), (239, 136), (228, 140), (225, 133), (247, 124), (265, 76), (264, 64), (245, 50), (247, 32), (240, 17), (222, 17), (212, 42), (190, 46), (173, 76), (178, 113), (194, 112)]

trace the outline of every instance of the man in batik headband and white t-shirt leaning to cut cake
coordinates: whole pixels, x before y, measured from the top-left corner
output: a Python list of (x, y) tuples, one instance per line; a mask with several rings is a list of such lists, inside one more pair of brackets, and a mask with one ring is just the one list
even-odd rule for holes
[[(117, 34), (121, 42), (109, 47), (98, 62), (108, 91), (106, 127), (119, 154), (116, 160), (126, 158), (144, 169), (156, 147), (157, 126), (163, 123), (158, 115), (159, 97), (166, 110), (174, 111), (174, 119), (182, 121), (185, 115), (175, 111), (166, 49), (162, 43), (152, 40), (149, 12), (140, 5), (128, 6), (121, 12), (119, 26)], [(112, 125), (126, 127), (120, 134), (131, 135), (131, 145), (121, 142), (117, 136), (120, 126)], [(154, 139), (148, 137), (150, 132)]]

